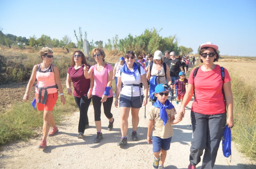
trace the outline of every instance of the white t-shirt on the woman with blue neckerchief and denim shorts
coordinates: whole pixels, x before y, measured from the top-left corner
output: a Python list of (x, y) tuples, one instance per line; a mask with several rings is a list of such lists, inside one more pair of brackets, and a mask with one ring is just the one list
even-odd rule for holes
[[(131, 70), (131, 72), (133, 72), (133, 70)], [(141, 74), (140, 74), (141, 73)], [(138, 71), (138, 69), (135, 71), (135, 75), (136, 75), (136, 80), (132, 75), (127, 75), (125, 73), (122, 72), (122, 77), (120, 76), (120, 70), (118, 71), (117, 77), (121, 77), (121, 80), (124, 84), (124, 87), (122, 88), (121, 94), (126, 95), (126, 96), (140, 96), (140, 90), (141, 90), (141, 95), (143, 95), (143, 90), (141, 87), (139, 86), (128, 86), (131, 84), (137, 84), (139, 85), (141, 83), (141, 75), (146, 74), (145, 70), (140, 67), (140, 73)], [(133, 91), (132, 91), (133, 89)], [(140, 89), (140, 90), (139, 90)]]

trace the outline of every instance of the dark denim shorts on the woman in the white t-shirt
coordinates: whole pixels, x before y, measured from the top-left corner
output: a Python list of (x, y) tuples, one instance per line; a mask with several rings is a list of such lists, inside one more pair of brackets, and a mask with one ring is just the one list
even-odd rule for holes
[(143, 102), (143, 95), (131, 97), (121, 94), (119, 107), (132, 107), (135, 109), (141, 108), (142, 102), (140, 103), (140, 97)]

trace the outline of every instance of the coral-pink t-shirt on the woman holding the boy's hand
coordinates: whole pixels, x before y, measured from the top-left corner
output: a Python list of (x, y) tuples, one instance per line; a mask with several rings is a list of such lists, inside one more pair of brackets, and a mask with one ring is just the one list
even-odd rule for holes
[[(224, 69), (224, 83), (231, 81), (228, 71)], [(189, 84), (193, 85), (193, 73), (189, 76)], [(225, 113), (225, 102), (222, 94), (222, 84), (220, 66), (216, 65), (211, 71), (204, 72), (201, 67), (194, 78), (195, 98), (191, 110), (201, 114)]]

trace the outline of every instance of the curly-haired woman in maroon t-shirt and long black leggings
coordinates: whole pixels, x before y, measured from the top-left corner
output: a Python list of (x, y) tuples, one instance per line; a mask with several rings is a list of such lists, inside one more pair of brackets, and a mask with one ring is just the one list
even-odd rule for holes
[[(75, 102), (80, 110), (78, 123), (78, 138), (83, 138), (84, 130), (89, 127), (87, 111), (91, 102), (91, 92), (94, 85), (94, 79), (85, 79), (83, 73), (84, 64), (87, 65), (85, 56), (80, 50), (74, 51), (70, 67), (67, 70), (66, 87), (68, 94), (74, 95)], [(87, 65), (89, 66), (89, 65)], [(71, 90), (71, 81), (74, 91)]]

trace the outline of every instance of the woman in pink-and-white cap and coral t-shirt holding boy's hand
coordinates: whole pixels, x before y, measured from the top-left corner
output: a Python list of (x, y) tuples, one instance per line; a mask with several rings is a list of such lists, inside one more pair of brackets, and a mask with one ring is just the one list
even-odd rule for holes
[(205, 151), (201, 168), (212, 168), (226, 122), (228, 127), (234, 125), (230, 76), (224, 69), (225, 78), (224, 82), (222, 81), (220, 66), (213, 63), (219, 58), (217, 50), (218, 46), (211, 42), (201, 44), (199, 55), (203, 65), (198, 68), (194, 79), (192, 77), (195, 69), (190, 73), (188, 89), (179, 111), (184, 117), (185, 106), (192, 98), (194, 87), (195, 98), (191, 108), (193, 135), (188, 169), (195, 168), (200, 162), (203, 150)]

